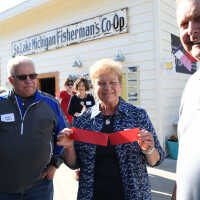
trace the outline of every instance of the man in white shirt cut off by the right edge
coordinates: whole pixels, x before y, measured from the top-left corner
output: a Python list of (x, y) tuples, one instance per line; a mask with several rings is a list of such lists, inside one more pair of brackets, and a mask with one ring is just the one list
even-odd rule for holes
[[(200, 61), (200, 1), (177, 0), (177, 23), (184, 49)], [(178, 122), (177, 200), (200, 199), (200, 71), (184, 89)]]

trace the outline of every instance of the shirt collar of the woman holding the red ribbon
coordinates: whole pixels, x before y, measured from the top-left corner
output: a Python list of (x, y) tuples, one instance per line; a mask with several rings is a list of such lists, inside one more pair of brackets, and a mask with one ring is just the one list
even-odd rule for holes
[[(127, 107), (127, 103), (121, 97), (119, 97), (119, 105), (117, 107), (115, 114), (117, 115), (119, 113), (123, 113), (128, 116), (128, 110), (126, 109), (126, 107)], [(91, 119), (95, 118), (97, 115), (101, 113), (99, 108), (100, 108), (100, 105), (99, 105), (99, 102), (97, 102), (91, 109)]]

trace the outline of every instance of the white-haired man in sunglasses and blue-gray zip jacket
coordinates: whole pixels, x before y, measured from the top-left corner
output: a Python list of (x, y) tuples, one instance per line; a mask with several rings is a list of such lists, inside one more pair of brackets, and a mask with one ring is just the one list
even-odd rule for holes
[(37, 90), (30, 58), (12, 58), (8, 72), (13, 89), (0, 96), (0, 200), (52, 200), (63, 151), (56, 136), (67, 127), (63, 112)]

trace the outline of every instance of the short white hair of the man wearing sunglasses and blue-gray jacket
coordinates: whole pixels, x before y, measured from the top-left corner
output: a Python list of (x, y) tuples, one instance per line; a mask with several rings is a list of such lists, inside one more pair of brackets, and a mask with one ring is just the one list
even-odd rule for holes
[(22, 63), (31, 63), (35, 68), (35, 64), (31, 58), (27, 56), (16, 56), (8, 61), (7, 64), (8, 77), (15, 75), (17, 67), (19, 67), (20, 64)]

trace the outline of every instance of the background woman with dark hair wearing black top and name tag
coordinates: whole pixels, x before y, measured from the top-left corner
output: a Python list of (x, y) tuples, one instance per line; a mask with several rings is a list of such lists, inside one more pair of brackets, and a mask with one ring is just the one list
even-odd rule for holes
[(71, 97), (68, 113), (73, 117), (79, 117), (86, 108), (92, 107), (95, 104), (92, 94), (87, 93), (90, 90), (87, 79), (81, 77), (74, 83), (76, 94)]

